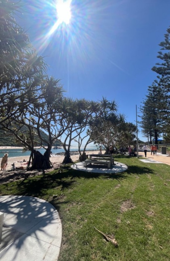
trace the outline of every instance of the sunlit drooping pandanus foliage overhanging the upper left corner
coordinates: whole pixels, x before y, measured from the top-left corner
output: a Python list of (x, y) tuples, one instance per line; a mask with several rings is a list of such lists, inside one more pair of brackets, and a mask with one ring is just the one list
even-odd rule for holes
[(21, 7), (19, 2), (0, 1), (0, 124), (36, 98), (46, 73), (46, 63), (14, 19)]

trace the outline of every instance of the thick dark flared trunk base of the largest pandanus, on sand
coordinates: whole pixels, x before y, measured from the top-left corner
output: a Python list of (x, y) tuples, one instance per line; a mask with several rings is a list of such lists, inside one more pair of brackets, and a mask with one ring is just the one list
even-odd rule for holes
[[(32, 164), (31, 164), (32, 161)], [(53, 165), (50, 162), (50, 151), (47, 149), (44, 155), (36, 150), (33, 150), (30, 155), (30, 159), (27, 165), (27, 170), (36, 169), (50, 169)]]

